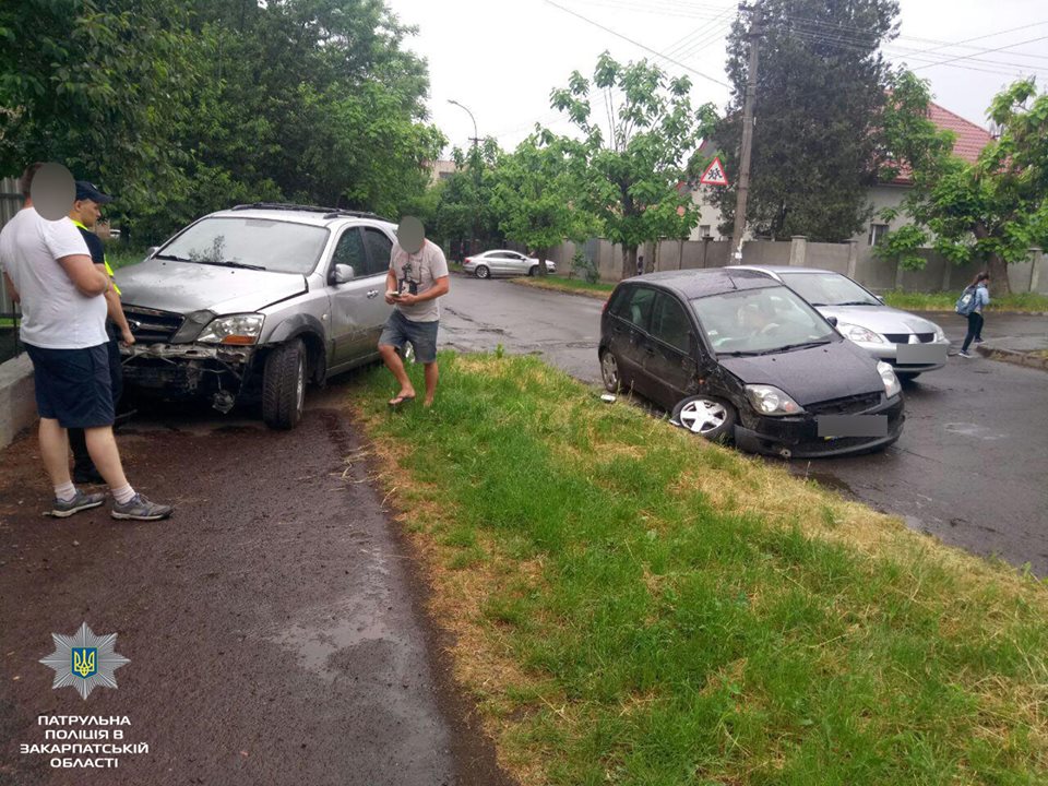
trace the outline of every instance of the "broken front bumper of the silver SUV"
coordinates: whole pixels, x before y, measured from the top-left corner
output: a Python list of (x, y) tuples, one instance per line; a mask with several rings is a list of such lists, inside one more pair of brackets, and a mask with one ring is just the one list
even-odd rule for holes
[(249, 391), (258, 347), (216, 344), (121, 345), (128, 388), (171, 401), (212, 400), (228, 412)]

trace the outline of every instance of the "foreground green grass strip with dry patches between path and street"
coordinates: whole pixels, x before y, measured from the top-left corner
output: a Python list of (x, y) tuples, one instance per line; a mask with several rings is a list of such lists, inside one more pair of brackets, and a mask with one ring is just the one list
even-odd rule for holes
[(535, 358), (441, 362), (432, 410), (354, 394), (522, 783), (1048, 782), (1044, 583)]

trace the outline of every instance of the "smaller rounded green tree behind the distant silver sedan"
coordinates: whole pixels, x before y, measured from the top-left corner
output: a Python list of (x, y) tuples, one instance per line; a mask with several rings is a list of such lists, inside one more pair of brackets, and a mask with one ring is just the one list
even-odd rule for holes
[(499, 227), (538, 257), (538, 275), (547, 273), (551, 247), (564, 238), (582, 239), (593, 224), (575, 204), (577, 195), (571, 150), (548, 131), (532, 134), (499, 160), (492, 189)]

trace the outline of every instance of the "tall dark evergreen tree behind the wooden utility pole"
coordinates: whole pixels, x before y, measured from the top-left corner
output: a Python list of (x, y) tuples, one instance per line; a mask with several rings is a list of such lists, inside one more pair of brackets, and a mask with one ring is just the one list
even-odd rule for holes
[[(888, 66), (878, 49), (896, 34), (896, 0), (761, 0), (747, 224), (757, 235), (838, 242), (866, 224), (881, 159), (879, 119)], [(739, 171), (749, 75), (747, 25), (728, 37), (731, 99), (715, 138)], [(713, 201), (735, 221), (735, 186)]]

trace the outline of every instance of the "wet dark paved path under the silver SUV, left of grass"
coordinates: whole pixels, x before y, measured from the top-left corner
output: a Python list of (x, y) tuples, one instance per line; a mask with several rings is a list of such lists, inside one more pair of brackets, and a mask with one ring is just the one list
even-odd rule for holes
[[(0, 452), (0, 783), (507, 783), (451, 690), (340, 386), (290, 432), (135, 418), (128, 474), (177, 505), (169, 522), (43, 519), (35, 437)], [(37, 663), (84, 621), (131, 660), (86, 701)], [(40, 714), (127, 715), (148, 752), (53, 770), (20, 753), (45, 742)]]

